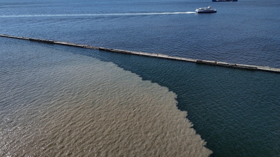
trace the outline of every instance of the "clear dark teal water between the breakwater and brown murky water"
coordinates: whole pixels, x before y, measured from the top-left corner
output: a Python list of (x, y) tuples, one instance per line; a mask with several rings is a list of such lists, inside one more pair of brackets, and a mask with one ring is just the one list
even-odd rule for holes
[(102, 60), (176, 93), (178, 108), (188, 112), (211, 156), (280, 154), (278, 73), (100, 53)]

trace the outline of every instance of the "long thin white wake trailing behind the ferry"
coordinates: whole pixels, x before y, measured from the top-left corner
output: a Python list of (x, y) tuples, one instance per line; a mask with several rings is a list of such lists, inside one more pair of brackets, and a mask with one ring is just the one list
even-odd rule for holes
[(110, 13), (110, 14), (40, 14), (40, 15), (2, 15), (0, 18), (24, 17), (78, 17), (78, 16), (135, 16), (135, 15), (176, 15), (193, 14), (195, 12), (162, 12), (162, 13)]

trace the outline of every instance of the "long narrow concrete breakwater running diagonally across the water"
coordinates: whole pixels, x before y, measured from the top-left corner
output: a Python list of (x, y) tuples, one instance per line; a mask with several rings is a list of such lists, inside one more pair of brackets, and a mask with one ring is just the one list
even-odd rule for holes
[(83, 47), (83, 48), (90, 48), (90, 49), (99, 49), (101, 51), (110, 51), (110, 52), (126, 53), (126, 54), (140, 55), (140, 56), (148, 56), (148, 57), (188, 61), (188, 62), (195, 62), (195, 63), (201, 63), (201, 64), (218, 65), (218, 66), (242, 68), (242, 69), (252, 69), (252, 70), (262, 70), (262, 71), (270, 71), (270, 72), (280, 73), (279, 68), (272, 68), (272, 67), (268, 67), (268, 66), (255, 66), (255, 65), (246, 65), (246, 64), (232, 64), (232, 63), (220, 62), (220, 61), (198, 60), (198, 59), (190, 59), (190, 58), (169, 56), (169, 55), (160, 54), (160, 53), (147, 53), (147, 52), (139, 52), (139, 51), (109, 49), (109, 48), (104, 48), (104, 47), (95, 47), (95, 46), (90, 46), (90, 45), (69, 43), (69, 42), (63, 42), (63, 41), (53, 41), (53, 40), (46, 40), (46, 39), (17, 37), (17, 36), (11, 36), (11, 35), (6, 35), (6, 34), (0, 34), (0, 37), (9, 37), (9, 38), (24, 39), (24, 40), (50, 43), (50, 44), (60, 44), (60, 45), (76, 46), (76, 47)]

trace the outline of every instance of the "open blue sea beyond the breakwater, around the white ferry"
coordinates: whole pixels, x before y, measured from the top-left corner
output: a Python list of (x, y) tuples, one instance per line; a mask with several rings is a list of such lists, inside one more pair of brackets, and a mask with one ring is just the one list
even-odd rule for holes
[[(207, 6), (218, 12), (194, 13)], [(278, 0), (1, 1), (0, 33), (279, 68), (279, 8)]]

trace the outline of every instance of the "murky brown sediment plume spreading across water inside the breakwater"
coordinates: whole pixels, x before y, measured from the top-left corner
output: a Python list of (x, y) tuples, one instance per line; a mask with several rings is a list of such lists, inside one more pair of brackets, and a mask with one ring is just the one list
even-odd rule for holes
[(167, 88), (111, 62), (11, 41), (0, 46), (0, 155), (211, 154)]

